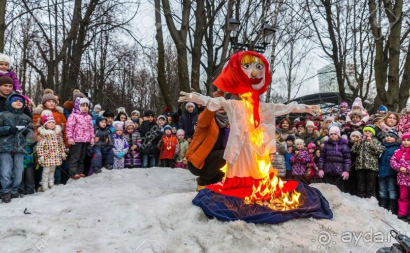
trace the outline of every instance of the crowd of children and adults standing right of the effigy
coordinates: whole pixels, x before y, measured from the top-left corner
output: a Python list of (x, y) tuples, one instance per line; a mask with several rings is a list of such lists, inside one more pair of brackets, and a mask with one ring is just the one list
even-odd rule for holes
[[(325, 121), (281, 119), (276, 140), (286, 150), (280, 162), (279, 146), (272, 166), (283, 179), (329, 183), (361, 198), (374, 196), (380, 206), (410, 222), (410, 105), (401, 114), (380, 106), (369, 116), (360, 98), (349, 109), (342, 102)], [(319, 131), (318, 131), (319, 129)], [(275, 161), (276, 160), (276, 161)]]

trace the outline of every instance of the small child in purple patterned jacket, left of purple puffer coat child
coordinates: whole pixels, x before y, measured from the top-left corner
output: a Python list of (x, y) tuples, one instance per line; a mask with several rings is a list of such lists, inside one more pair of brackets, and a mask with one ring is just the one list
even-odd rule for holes
[(310, 163), (309, 153), (304, 149), (303, 139), (295, 140), (295, 150), (291, 157), (293, 179), (309, 184), (305, 177), (306, 166)]

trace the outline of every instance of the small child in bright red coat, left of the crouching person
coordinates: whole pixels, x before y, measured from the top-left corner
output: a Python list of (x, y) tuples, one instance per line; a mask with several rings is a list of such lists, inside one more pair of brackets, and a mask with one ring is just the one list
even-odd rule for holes
[(157, 148), (161, 151), (160, 162), (161, 167), (175, 167), (175, 160), (179, 155), (178, 138), (172, 134), (170, 125), (164, 127), (164, 135), (158, 143)]

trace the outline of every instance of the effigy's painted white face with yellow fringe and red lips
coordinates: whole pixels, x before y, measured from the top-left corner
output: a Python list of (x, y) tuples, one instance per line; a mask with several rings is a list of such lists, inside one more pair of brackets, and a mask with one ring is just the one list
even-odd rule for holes
[(250, 85), (254, 90), (260, 90), (265, 85), (265, 65), (254, 55), (244, 55), (241, 68), (248, 76)]

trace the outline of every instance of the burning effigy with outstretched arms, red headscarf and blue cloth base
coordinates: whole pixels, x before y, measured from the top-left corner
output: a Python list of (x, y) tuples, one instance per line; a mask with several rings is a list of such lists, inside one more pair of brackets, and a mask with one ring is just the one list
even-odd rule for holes
[(224, 153), (227, 163), (220, 168), (225, 178), (200, 190), (193, 203), (207, 216), (222, 220), (279, 223), (302, 217), (330, 219), (333, 213), (322, 193), (300, 181), (282, 181), (269, 156), (276, 149), (275, 117), (314, 115), (319, 107), (260, 102), (270, 81), (269, 64), (263, 55), (241, 51), (231, 56), (213, 83), (240, 100), (181, 92), (180, 102), (202, 104), (211, 111), (224, 107), (231, 126)]

